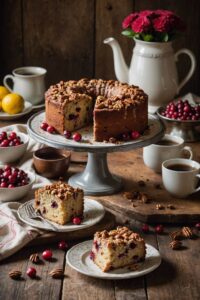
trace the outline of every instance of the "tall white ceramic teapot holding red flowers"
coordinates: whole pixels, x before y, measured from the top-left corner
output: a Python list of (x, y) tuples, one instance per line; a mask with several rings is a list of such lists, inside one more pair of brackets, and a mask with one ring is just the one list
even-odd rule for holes
[[(194, 54), (188, 49), (181, 49), (174, 54), (172, 42), (157, 43), (135, 39), (130, 68), (124, 61), (119, 43), (113, 37), (105, 39), (104, 44), (112, 47), (117, 79), (142, 88), (149, 96), (151, 113), (173, 100), (196, 68)], [(182, 53), (190, 57), (191, 67), (187, 76), (178, 83), (176, 61)]]

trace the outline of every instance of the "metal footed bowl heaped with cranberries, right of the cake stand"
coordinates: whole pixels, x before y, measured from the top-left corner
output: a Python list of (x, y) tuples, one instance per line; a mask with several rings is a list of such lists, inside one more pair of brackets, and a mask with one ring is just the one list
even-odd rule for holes
[(168, 133), (185, 142), (200, 140), (200, 104), (192, 105), (188, 100), (172, 101), (157, 110), (158, 117), (167, 126)]

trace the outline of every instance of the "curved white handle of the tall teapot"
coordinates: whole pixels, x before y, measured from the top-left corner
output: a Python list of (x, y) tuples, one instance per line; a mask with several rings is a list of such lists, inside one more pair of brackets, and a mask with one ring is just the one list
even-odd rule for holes
[(185, 76), (185, 78), (178, 85), (177, 94), (180, 92), (180, 90), (186, 84), (186, 82), (188, 82), (188, 80), (192, 77), (192, 75), (194, 74), (194, 71), (196, 69), (196, 58), (195, 58), (194, 54), (192, 53), (192, 51), (190, 51), (189, 49), (186, 49), (186, 48), (183, 48), (183, 49), (180, 49), (179, 51), (177, 51), (175, 53), (175, 61), (176, 62), (178, 61), (178, 56), (180, 54), (187, 54), (189, 56), (189, 58), (191, 60), (191, 67), (190, 67), (190, 70), (189, 70), (188, 74)]

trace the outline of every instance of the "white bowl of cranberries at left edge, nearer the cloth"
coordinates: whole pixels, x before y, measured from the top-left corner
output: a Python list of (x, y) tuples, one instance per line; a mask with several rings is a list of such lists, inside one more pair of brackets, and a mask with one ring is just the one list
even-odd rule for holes
[(0, 165), (0, 202), (23, 198), (32, 188), (35, 175), (9, 165)]

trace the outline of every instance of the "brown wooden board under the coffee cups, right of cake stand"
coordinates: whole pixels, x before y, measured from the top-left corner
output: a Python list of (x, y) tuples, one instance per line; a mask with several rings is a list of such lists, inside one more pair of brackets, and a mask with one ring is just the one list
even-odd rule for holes
[[(190, 144), (194, 159), (200, 162), (200, 144)], [(92, 197), (109, 210), (123, 214), (126, 218), (134, 218), (144, 223), (191, 223), (200, 221), (200, 193), (186, 199), (172, 197), (162, 185), (162, 177), (154, 173), (143, 163), (142, 149), (130, 152), (112, 153), (109, 155), (110, 170), (123, 179), (124, 190), (112, 196)], [(141, 182), (144, 186), (141, 186)], [(184, 184), (184, 183), (183, 183)], [(131, 202), (123, 196), (127, 191), (146, 193), (150, 203), (140, 200)], [(156, 209), (156, 204), (163, 206)], [(173, 205), (174, 209), (168, 208)]]

